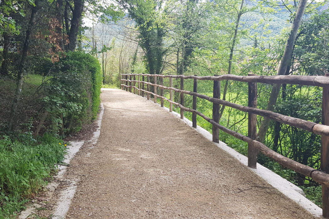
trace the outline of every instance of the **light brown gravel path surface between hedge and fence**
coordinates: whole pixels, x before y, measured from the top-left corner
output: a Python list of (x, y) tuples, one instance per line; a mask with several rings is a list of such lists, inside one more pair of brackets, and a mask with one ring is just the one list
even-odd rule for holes
[(145, 98), (103, 90), (94, 147), (66, 218), (314, 218), (179, 118)]

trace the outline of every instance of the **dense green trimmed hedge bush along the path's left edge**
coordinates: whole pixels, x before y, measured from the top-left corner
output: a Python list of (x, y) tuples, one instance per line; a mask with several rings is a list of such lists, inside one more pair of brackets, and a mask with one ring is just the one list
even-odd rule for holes
[(70, 134), (96, 118), (101, 85), (97, 59), (79, 51), (66, 54), (61, 67), (47, 81), (42, 98), (55, 133)]

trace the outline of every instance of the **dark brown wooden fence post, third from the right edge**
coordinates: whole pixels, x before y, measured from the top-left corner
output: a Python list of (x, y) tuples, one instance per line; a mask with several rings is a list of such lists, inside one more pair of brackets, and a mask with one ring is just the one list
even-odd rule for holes
[[(218, 76), (215, 74), (215, 76)], [(213, 97), (220, 98), (220, 81), (214, 81)], [(213, 121), (219, 123), (219, 104), (213, 103)], [(219, 129), (213, 126), (213, 142), (219, 143)]]

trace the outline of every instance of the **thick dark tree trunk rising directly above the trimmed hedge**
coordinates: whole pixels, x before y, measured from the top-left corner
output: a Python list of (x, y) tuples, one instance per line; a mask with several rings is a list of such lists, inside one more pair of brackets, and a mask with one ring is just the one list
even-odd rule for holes
[(81, 23), (81, 15), (84, 7), (84, 0), (74, 0), (74, 10), (72, 11), (72, 20), (70, 33), (68, 34), (68, 39), (70, 43), (67, 46), (67, 50), (74, 51), (77, 45), (77, 37), (79, 32), (79, 27)]

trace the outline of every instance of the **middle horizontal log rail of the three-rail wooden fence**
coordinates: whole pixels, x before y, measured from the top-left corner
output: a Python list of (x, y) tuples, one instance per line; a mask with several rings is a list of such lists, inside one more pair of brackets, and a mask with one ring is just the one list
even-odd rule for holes
[[(125, 80), (124, 80), (125, 81)], [(252, 107), (246, 107), (246, 106), (242, 106), (239, 104), (235, 104), (235, 103), (231, 103), (229, 101), (225, 101), (225, 100), (221, 100), (221, 99), (217, 99), (217, 98), (212, 98), (209, 97), (207, 95), (204, 94), (200, 94), (200, 93), (195, 93), (192, 91), (188, 91), (188, 90), (179, 90), (177, 88), (170, 88), (170, 87), (165, 87), (165, 86), (161, 86), (158, 84), (152, 84), (152, 83), (148, 83), (148, 82), (144, 82), (144, 81), (130, 81), (127, 80), (129, 82), (140, 82), (140, 83), (145, 83), (145, 84), (149, 84), (151, 86), (156, 86), (162, 89), (167, 89), (167, 90), (173, 90), (175, 92), (178, 93), (185, 93), (185, 94), (189, 94), (191, 96), (197, 96), (199, 98), (208, 100), (210, 102), (213, 103), (218, 103), (227, 107), (232, 107), (234, 109), (239, 109), (243, 112), (249, 112), (249, 113), (254, 113), (260, 116), (265, 116), (268, 117), (270, 119), (273, 119), (274, 121), (283, 123), (283, 124), (287, 124), (287, 125), (291, 125), (291, 126), (295, 126), (299, 129), (303, 129), (306, 131), (310, 131), (313, 132), (315, 134), (319, 134), (319, 135), (326, 135), (329, 136), (329, 126), (325, 126), (322, 124), (318, 124), (315, 122), (310, 122), (310, 121), (306, 121), (303, 119), (299, 119), (299, 118), (295, 118), (295, 117), (291, 117), (291, 116), (286, 116), (277, 112), (273, 112), (273, 111), (269, 111), (269, 110), (265, 110), (265, 109), (257, 109), (257, 108), (252, 108)]]

